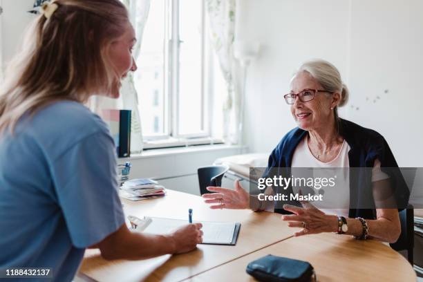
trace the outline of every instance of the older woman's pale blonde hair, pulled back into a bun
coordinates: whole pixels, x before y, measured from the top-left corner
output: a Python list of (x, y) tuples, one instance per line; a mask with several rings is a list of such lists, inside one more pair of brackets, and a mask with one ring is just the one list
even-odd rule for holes
[(338, 105), (333, 109), (336, 122), (339, 119), (337, 107), (344, 106), (350, 95), (347, 86), (342, 82), (338, 69), (323, 59), (313, 59), (304, 62), (297, 73), (302, 71), (310, 73), (326, 91), (338, 92), (341, 95)]

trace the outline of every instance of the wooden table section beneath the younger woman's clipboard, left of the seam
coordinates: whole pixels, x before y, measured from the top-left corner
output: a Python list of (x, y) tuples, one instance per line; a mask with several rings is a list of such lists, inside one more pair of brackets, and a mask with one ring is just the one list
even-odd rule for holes
[(213, 210), (198, 196), (167, 191), (164, 198), (138, 202), (122, 200), (126, 216), (131, 214), (140, 218), (158, 216), (188, 219), (188, 209), (192, 208), (194, 220), (241, 222), (236, 245), (198, 245), (194, 252), (144, 261), (106, 261), (100, 256), (99, 250), (86, 250), (79, 276), (88, 276), (97, 281), (181, 281), (271, 243), (283, 241), (294, 232), (294, 229), (290, 229), (281, 220), (279, 214), (250, 210)]

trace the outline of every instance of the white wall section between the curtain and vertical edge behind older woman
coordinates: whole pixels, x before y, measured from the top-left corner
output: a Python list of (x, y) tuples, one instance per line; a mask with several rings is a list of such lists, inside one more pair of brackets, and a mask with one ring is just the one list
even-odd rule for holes
[(263, 47), (247, 74), (246, 139), (252, 151), (270, 152), (295, 126), (283, 95), (299, 64), (319, 57), (346, 73), (348, 1), (241, 1), (241, 39)]

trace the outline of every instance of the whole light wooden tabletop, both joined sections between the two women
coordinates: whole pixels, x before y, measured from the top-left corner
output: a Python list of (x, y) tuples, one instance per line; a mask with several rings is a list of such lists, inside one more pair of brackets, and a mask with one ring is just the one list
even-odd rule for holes
[[(194, 195), (168, 190), (167, 196), (122, 200), (126, 215), (241, 222), (236, 246), (198, 245), (187, 254), (144, 261), (105, 261), (87, 250), (79, 278), (95, 281), (254, 281), (245, 273), (250, 261), (266, 254), (312, 263), (319, 281), (415, 281), (411, 265), (388, 245), (350, 236), (318, 234), (292, 237), (295, 229), (279, 214), (249, 210), (212, 210)], [(142, 246), (140, 246), (142, 247)]]

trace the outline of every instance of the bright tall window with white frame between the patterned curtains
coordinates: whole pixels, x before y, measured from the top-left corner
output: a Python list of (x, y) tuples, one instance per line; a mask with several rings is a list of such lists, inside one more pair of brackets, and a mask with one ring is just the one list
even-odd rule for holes
[(145, 148), (211, 135), (205, 26), (203, 0), (151, 1), (135, 73)]

